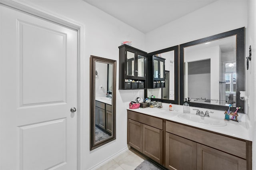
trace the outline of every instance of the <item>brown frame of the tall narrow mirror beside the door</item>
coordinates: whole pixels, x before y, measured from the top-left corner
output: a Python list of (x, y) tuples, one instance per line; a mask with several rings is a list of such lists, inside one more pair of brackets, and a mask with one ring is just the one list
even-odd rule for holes
[[(112, 64), (112, 136), (106, 140), (94, 143), (94, 108), (95, 108), (95, 62)], [(113, 95), (114, 94), (114, 95)], [(90, 56), (90, 150), (98, 148), (116, 139), (116, 60)]]

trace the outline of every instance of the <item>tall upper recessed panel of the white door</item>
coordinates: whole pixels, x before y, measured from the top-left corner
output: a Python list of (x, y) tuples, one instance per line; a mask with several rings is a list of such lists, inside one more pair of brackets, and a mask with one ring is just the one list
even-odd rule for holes
[(20, 105), (65, 103), (67, 35), (18, 20), (18, 38)]

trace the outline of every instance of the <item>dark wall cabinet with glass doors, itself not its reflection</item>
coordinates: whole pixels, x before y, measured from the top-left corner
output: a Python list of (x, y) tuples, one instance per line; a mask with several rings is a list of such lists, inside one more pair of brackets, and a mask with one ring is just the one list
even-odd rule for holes
[(118, 48), (119, 89), (144, 89), (146, 87), (146, 52), (126, 44)]

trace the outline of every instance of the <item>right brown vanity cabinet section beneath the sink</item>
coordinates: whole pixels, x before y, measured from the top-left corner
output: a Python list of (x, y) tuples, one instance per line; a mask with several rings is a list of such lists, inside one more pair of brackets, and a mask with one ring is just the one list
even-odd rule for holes
[(250, 170), (251, 142), (166, 121), (170, 170)]

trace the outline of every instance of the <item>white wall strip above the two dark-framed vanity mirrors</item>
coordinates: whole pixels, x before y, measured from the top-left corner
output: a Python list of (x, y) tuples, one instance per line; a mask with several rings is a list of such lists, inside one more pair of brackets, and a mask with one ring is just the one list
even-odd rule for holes
[(218, 0), (146, 34), (152, 52), (247, 26), (246, 0)]

